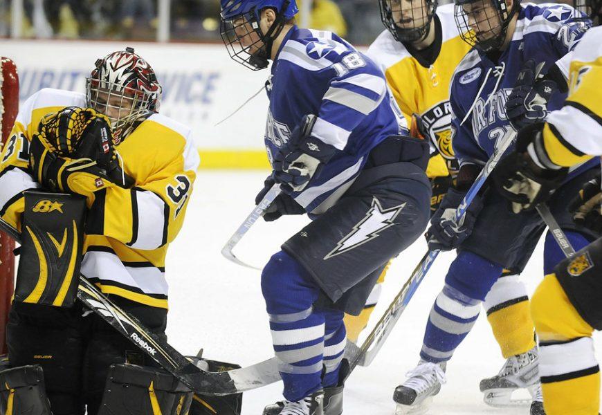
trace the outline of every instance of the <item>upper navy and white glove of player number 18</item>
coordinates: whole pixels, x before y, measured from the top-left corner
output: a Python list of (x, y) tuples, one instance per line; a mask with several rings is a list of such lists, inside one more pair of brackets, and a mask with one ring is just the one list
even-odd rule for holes
[(293, 130), (289, 142), (274, 155), (274, 180), (282, 184), (284, 193), (301, 192), (313, 177), (320, 175), (322, 165), (328, 163), (336, 152), (333, 146), (311, 136), (315, 123), (316, 116), (304, 116)]

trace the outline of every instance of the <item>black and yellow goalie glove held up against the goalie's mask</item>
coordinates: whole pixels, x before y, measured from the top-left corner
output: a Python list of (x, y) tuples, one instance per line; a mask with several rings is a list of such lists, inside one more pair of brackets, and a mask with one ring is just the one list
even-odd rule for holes
[(88, 199), (114, 184), (134, 184), (119, 165), (109, 119), (93, 109), (66, 107), (42, 118), (31, 140), (29, 167), (46, 189)]

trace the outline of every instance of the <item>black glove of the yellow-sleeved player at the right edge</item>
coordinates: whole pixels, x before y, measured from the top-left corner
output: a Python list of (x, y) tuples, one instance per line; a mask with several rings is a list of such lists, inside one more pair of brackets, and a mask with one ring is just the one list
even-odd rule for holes
[[(550, 169), (542, 165), (543, 124), (533, 124), (518, 132), (516, 149), (493, 170), (495, 189), (511, 202), (514, 213), (532, 210), (547, 201), (568, 174), (568, 169)], [(539, 157), (538, 157), (539, 156)]]

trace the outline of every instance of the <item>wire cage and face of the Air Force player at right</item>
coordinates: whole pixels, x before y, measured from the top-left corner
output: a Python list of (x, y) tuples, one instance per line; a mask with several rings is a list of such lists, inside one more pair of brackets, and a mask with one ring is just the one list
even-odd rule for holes
[(519, 6), (520, 0), (513, 0), (511, 8), (506, 0), (455, 0), (454, 16), (460, 37), (484, 52), (499, 50)]

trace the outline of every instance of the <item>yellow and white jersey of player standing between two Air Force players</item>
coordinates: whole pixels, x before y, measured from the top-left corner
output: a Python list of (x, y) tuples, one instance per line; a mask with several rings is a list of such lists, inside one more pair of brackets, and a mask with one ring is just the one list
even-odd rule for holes
[(435, 44), (429, 48), (432, 50), (418, 53), (397, 42), (385, 30), (367, 51), (385, 73), (408, 125), (412, 113), (419, 114), (426, 124), (432, 142), (432, 158), (427, 169), (431, 178), (447, 176), (448, 169), (455, 173), (453, 165), (447, 163), (446, 166), (444, 161), (444, 158), (448, 162), (455, 160), (450, 134), (449, 84), (457, 64), (470, 50), (459, 37), (453, 4), (437, 8), (434, 19)]

